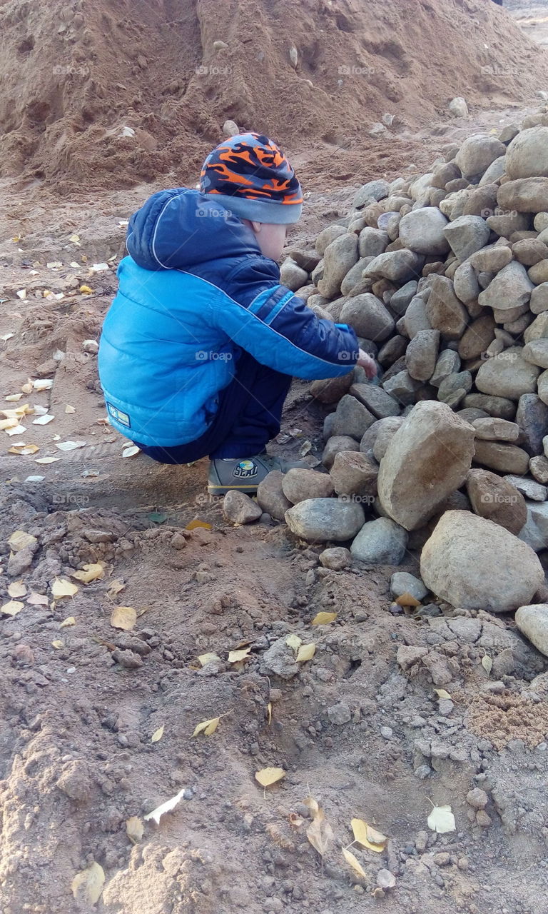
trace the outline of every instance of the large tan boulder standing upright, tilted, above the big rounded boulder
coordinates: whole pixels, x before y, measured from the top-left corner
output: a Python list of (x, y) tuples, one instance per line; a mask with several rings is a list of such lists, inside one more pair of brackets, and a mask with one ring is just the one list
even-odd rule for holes
[(381, 461), (378, 492), (385, 513), (406, 530), (423, 526), (464, 483), (473, 455), (468, 422), (445, 403), (417, 403)]

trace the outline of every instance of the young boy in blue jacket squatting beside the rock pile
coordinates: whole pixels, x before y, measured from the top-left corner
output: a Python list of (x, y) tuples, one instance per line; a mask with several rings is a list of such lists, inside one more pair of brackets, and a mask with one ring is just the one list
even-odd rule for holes
[(153, 194), (132, 215), (129, 257), (100, 338), (111, 425), (163, 463), (208, 455), (208, 491), (255, 493), (272, 469), (291, 377), (374, 360), (346, 324), (320, 320), (279, 284), (302, 194), (276, 143), (241, 133), (205, 159), (200, 189)]

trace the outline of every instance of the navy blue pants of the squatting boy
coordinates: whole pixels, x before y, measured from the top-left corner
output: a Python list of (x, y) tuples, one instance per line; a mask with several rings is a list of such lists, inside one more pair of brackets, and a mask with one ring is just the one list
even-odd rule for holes
[(253, 457), (264, 451), (279, 433), (291, 377), (261, 365), (244, 349), (235, 362), (235, 375), (219, 392), (215, 418), (203, 435), (170, 448), (134, 443), (160, 463), (192, 463), (205, 456)]

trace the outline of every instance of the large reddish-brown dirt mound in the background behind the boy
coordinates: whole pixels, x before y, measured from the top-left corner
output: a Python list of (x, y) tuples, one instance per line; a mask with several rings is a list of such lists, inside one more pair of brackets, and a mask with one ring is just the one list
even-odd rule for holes
[(363, 173), (453, 96), (522, 103), (546, 69), (486, 0), (53, 0), (2, 5), (0, 27), (0, 175), (62, 194), (195, 180), (227, 119)]

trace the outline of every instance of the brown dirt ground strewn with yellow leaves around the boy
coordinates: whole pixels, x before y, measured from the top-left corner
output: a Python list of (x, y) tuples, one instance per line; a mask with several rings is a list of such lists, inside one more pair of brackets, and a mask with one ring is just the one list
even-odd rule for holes
[[(541, 42), (529, 20), (542, 17), (513, 7)], [(365, 178), (426, 168), (448, 143), (535, 107), (533, 91), (484, 101), (467, 120), (440, 110), (402, 123), (390, 147), (371, 157), (364, 147), (359, 167), (354, 146), (296, 144), (306, 207), (289, 247), (345, 213)], [(205, 461), (125, 458), (128, 442), (104, 424), (96, 356), (82, 344), (98, 338), (115, 292), (125, 220), (164, 185), (82, 182), (65, 198), (61, 179), (0, 186), (0, 391), (51, 378), (5, 408), (55, 416), (0, 432), (2, 603), (23, 603), (0, 621), (0, 911), (544, 914), (548, 663), (511, 619), (443, 605), (394, 614), (394, 568), (322, 569), (323, 544), (283, 525), (231, 526), (205, 494)], [(101, 262), (107, 270), (91, 269)], [(308, 439), (321, 452), (326, 408), (309, 387), (294, 383), (290, 440), (273, 451), (297, 454)], [(39, 450), (8, 453), (19, 441)], [(65, 441), (83, 443), (65, 452)], [(195, 520), (208, 526), (189, 529)], [(10, 558), (17, 530), (34, 538)], [(99, 562), (104, 577), (70, 577)], [(416, 569), (409, 552), (397, 570)], [(78, 591), (54, 597), (58, 578)], [(136, 611), (132, 630), (111, 625), (121, 605)], [(312, 625), (320, 611), (335, 620)], [(315, 643), (311, 661), (293, 663), (290, 633)], [(207, 653), (217, 659), (202, 667)], [(284, 658), (278, 674), (272, 653)], [(215, 732), (193, 737), (216, 717)], [(255, 773), (270, 766), (286, 773), (263, 790)], [(479, 812), (467, 802), (476, 788), (487, 794)], [(160, 824), (144, 821), (182, 791)], [(332, 827), (322, 859), (307, 839), (310, 797)], [(456, 831), (428, 829), (432, 804), (451, 806)], [(132, 817), (143, 825), (135, 844)], [(342, 856), (353, 818), (389, 839), (380, 852), (352, 846), (364, 876)], [(105, 877), (95, 906), (71, 891), (93, 863)], [(379, 888), (385, 869), (395, 887)]]

